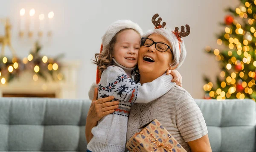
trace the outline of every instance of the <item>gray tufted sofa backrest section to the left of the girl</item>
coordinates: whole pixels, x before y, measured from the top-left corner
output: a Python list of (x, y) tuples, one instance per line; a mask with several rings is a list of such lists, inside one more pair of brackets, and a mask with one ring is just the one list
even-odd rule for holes
[(0, 98), (0, 151), (86, 151), (90, 101)]

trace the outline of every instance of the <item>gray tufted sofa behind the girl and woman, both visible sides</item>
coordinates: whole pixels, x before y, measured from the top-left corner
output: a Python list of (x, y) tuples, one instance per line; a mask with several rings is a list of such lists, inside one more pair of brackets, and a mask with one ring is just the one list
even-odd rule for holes
[[(213, 152), (256, 151), (256, 102), (195, 99)], [(0, 98), (0, 152), (85, 152), (89, 100)]]

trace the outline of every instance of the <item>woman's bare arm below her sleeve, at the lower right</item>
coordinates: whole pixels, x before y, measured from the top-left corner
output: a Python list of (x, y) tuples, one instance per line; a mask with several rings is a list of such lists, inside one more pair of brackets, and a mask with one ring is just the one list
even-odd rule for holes
[(191, 152), (212, 152), (208, 134), (203, 137), (188, 142)]

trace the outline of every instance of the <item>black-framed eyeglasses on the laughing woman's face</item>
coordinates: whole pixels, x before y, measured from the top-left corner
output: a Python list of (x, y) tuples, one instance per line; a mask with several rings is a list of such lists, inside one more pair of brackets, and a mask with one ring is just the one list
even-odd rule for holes
[[(165, 52), (168, 49), (170, 49), (172, 52), (171, 47), (167, 44), (164, 44), (162, 42), (154, 42), (152, 39), (148, 39), (145, 37), (141, 38), (141, 46), (150, 47), (153, 44), (155, 44), (156, 49), (160, 52)], [(173, 54), (173, 52), (172, 52), (172, 54)]]

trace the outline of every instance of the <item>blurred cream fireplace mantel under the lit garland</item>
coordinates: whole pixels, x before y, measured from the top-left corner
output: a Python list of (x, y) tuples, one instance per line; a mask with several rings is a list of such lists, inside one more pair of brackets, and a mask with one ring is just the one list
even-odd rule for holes
[(30, 71), (24, 71), (18, 79), (0, 85), (0, 97), (4, 94), (54, 94), (56, 98), (76, 99), (77, 73), (80, 66), (79, 61), (64, 61), (62, 64), (62, 81), (44, 81), (38, 77), (37, 81), (32, 79)]

